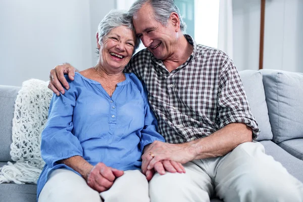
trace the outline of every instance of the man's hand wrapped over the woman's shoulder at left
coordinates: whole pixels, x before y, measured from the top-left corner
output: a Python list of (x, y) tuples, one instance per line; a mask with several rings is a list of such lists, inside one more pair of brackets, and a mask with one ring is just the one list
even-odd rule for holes
[[(68, 82), (66, 81), (64, 74), (68, 74), (70, 80), (74, 80), (75, 76), (75, 68), (71, 66), (69, 63), (64, 63), (56, 66), (49, 73), (49, 84), (48, 88), (53, 90), (58, 96), (60, 95), (59, 91), (64, 94), (66, 89), (69, 89)], [(62, 84), (61, 84), (61, 83)], [(63, 85), (63, 86), (62, 86)]]

